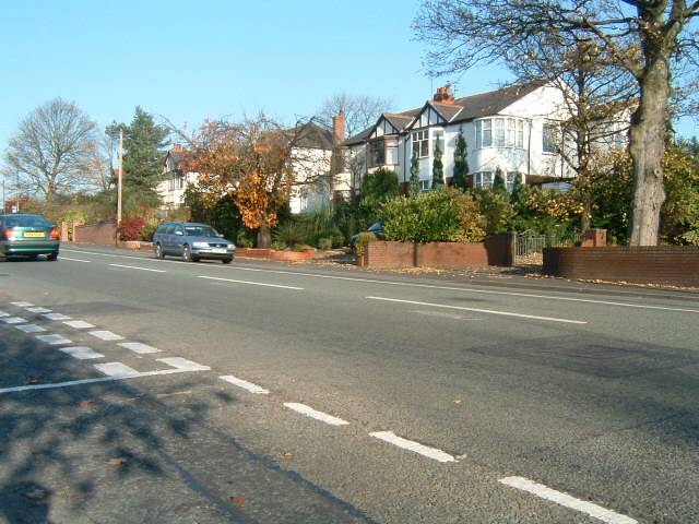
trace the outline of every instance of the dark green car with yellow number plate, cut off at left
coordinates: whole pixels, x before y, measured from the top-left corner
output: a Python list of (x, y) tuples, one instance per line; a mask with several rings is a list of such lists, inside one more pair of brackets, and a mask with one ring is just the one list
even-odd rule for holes
[(22, 255), (58, 259), (59, 230), (42, 215), (0, 215), (0, 260)]

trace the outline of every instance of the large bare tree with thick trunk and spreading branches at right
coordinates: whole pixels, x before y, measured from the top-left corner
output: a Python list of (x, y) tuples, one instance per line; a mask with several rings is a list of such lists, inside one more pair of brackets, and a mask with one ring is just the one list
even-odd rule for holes
[(428, 63), (440, 74), (462, 72), (479, 61), (511, 66), (541, 60), (522, 52), (528, 47), (535, 51), (532, 43), (541, 38), (569, 51), (581, 41), (604, 50), (600, 63), (625, 72), (636, 84), (638, 106), (629, 133), (635, 180), (630, 243), (653, 246), (665, 200), (661, 160), (668, 100), (676, 87), (673, 80), (679, 81), (673, 72), (697, 71), (699, 38), (688, 26), (698, 14), (699, 0), (434, 0), (424, 3), (414, 28), (434, 46)]

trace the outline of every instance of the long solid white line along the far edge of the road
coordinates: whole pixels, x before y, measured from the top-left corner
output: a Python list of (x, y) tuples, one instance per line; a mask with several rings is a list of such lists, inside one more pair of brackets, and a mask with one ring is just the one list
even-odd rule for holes
[[(72, 251), (75, 253), (96, 254), (99, 257), (114, 257), (114, 258), (122, 258), (122, 259), (144, 260), (142, 257), (129, 257), (126, 254), (109, 254), (109, 253), (98, 253), (95, 251), (80, 251), (80, 250), (66, 250), (66, 251)], [(145, 260), (151, 260), (153, 262), (181, 263), (174, 260), (155, 260), (155, 259), (145, 259)], [(477, 289), (477, 288), (470, 288), (470, 287), (437, 286), (434, 284), (391, 282), (391, 281), (380, 281), (378, 278), (358, 278), (354, 276), (320, 275), (317, 273), (306, 273), (300, 271), (263, 270), (260, 267), (240, 267), (238, 265), (228, 265), (225, 267), (220, 265), (211, 265), (211, 267), (215, 267), (216, 270), (225, 270), (225, 271), (252, 271), (258, 273), (274, 273), (279, 275), (295, 275), (295, 276), (307, 276), (311, 278), (327, 278), (331, 281), (362, 282), (366, 284), (384, 284), (387, 286), (416, 287), (422, 289), (442, 289), (448, 291), (477, 293), (482, 295), (502, 295), (508, 297), (543, 298), (546, 300), (564, 300), (568, 302), (601, 303), (605, 306), (616, 306), (619, 308), (635, 308), (635, 309), (650, 309), (650, 310), (656, 310), (656, 311), (679, 311), (684, 313), (699, 313), (699, 309), (671, 308), (665, 306), (647, 306), (641, 303), (616, 302), (612, 300), (594, 300), (591, 298), (557, 297), (554, 295), (537, 295), (537, 294), (520, 293), (520, 291), (496, 291), (493, 289)], [(565, 293), (565, 289), (561, 290), (561, 293)], [(662, 299), (662, 297), (660, 298)]]

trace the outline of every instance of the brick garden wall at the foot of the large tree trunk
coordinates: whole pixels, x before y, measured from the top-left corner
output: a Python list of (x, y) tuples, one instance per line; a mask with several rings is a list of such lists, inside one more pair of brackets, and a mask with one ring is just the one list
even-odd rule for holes
[(544, 274), (699, 287), (699, 247), (546, 248)]

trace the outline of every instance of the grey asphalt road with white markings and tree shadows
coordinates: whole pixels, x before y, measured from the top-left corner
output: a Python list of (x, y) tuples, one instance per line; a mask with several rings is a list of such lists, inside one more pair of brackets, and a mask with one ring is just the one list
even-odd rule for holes
[(63, 246), (0, 264), (0, 523), (698, 523), (697, 341), (688, 293)]

